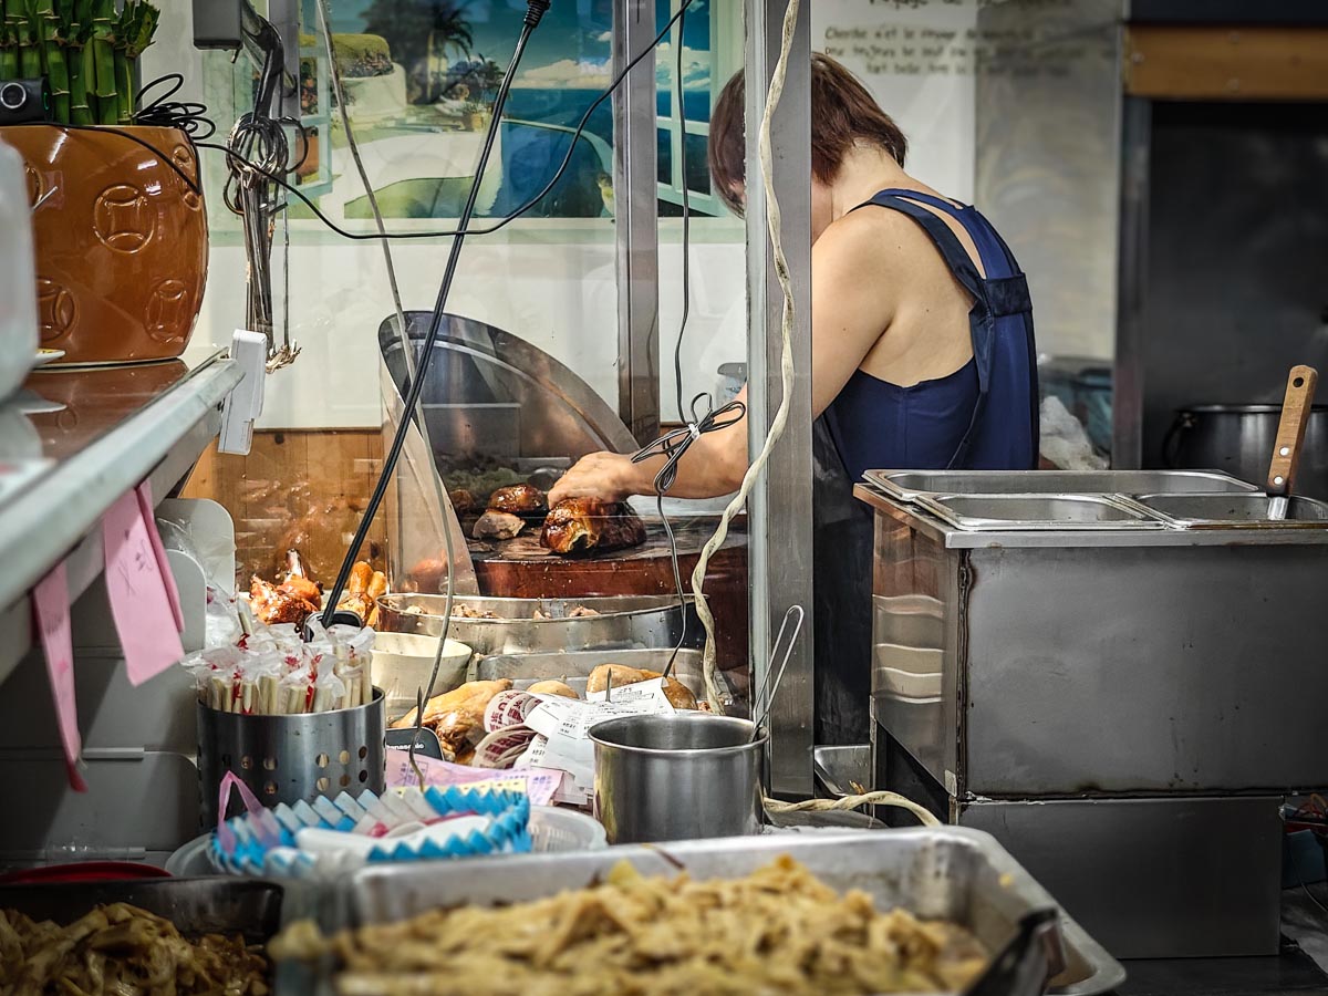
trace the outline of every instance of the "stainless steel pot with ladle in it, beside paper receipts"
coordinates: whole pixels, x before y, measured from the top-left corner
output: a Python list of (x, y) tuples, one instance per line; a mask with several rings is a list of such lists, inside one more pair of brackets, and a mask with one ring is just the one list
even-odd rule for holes
[(610, 843), (761, 831), (765, 737), (729, 716), (622, 716), (590, 730), (595, 817)]

